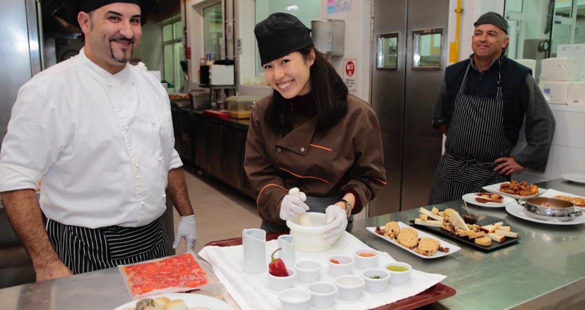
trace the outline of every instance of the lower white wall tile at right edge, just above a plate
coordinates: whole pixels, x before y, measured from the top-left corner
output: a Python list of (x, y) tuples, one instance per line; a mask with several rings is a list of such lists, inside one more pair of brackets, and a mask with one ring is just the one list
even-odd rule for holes
[(556, 145), (551, 166), (551, 179), (560, 178), (563, 173), (585, 173), (585, 149)]

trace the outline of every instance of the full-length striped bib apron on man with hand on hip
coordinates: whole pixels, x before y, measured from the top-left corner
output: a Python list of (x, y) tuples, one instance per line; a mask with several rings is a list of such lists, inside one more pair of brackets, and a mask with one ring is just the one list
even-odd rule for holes
[(509, 176), (494, 171), (498, 165), (494, 160), (510, 156), (514, 147), (504, 132), (501, 76), (495, 99), (470, 96), (464, 94), (470, 66), (471, 63), (455, 98), (446, 151), (433, 178), (430, 205), (461, 199), (464, 194), (483, 191), (481, 187), (486, 185), (510, 181)]

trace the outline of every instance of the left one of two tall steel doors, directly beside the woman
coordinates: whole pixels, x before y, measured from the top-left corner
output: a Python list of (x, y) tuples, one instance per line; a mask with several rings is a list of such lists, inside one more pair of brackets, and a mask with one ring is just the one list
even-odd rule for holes
[[(387, 185), (370, 202), (369, 216), (400, 211), (404, 57), (408, 44), (405, 39), (407, 1), (374, 0), (373, 5), (371, 106), (380, 122)], [(383, 60), (391, 56), (380, 44), (394, 37), (398, 48), (395, 63), (391, 63)], [(393, 65), (395, 68), (391, 68)]]

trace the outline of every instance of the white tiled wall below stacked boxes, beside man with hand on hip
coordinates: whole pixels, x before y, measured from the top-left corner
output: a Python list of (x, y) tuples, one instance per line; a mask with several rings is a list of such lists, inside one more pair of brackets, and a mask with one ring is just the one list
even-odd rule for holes
[[(555, 137), (550, 147), (548, 164), (544, 173), (525, 170), (513, 180), (541, 182), (560, 178), (563, 173), (585, 173), (585, 107), (550, 105), (556, 120)], [(520, 140), (512, 153), (526, 146), (522, 128)]]

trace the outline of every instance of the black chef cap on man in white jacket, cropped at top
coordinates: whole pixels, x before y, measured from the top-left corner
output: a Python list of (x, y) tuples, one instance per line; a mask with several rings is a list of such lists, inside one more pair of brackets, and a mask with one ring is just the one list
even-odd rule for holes
[(77, 15), (79, 12), (89, 13), (104, 5), (116, 2), (136, 4), (140, 6), (140, 25), (144, 25), (147, 16), (153, 11), (158, 0), (63, 0), (63, 5), (65, 5), (65, 8), (67, 9), (69, 22), (73, 23), (75, 26), (79, 26), (79, 23), (77, 22)]

